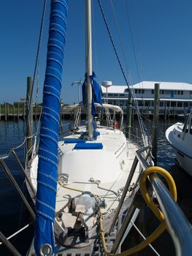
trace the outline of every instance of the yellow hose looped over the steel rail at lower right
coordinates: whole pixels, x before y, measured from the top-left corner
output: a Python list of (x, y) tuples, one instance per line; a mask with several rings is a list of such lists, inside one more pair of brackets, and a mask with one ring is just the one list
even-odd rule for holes
[[(119, 254), (116, 254), (116, 256), (127, 256), (127, 255), (132, 255), (136, 252), (139, 252), (140, 250), (144, 249), (147, 245), (151, 244), (166, 229), (166, 222), (165, 222), (165, 219), (164, 219), (164, 214), (160, 211), (158, 206), (156, 206), (155, 203), (153, 202), (153, 200), (150, 198), (150, 195), (148, 194), (147, 188), (146, 188), (146, 185), (145, 185), (146, 180), (147, 180), (147, 176), (150, 176), (150, 178), (152, 178), (152, 179), (153, 178), (158, 178), (154, 173), (159, 173), (162, 176), (164, 176), (164, 178), (166, 179), (166, 182), (169, 186), (169, 191), (171, 192), (172, 197), (174, 198), (175, 201), (177, 200), (177, 189), (175, 187), (174, 180), (173, 180), (172, 176), (166, 170), (164, 170), (161, 167), (149, 167), (149, 168), (147, 168), (147, 170), (145, 170), (142, 173), (142, 176), (141, 176), (140, 181), (139, 181), (140, 191), (142, 193), (142, 197), (145, 199), (145, 202), (147, 203), (147, 206), (149, 206), (150, 209), (155, 214), (155, 216), (158, 217), (158, 219), (161, 220), (161, 224), (153, 231), (153, 233), (150, 236), (148, 236), (140, 244), (138, 244), (137, 246), (132, 247), (131, 249), (126, 250), (125, 252), (121, 252)], [(100, 224), (100, 229), (101, 229), (101, 240), (102, 240), (102, 244), (104, 246), (104, 252), (109, 256), (113, 256), (114, 254), (111, 254), (108, 251), (106, 243), (105, 243), (101, 212), (100, 212), (100, 217), (99, 217), (99, 224)]]

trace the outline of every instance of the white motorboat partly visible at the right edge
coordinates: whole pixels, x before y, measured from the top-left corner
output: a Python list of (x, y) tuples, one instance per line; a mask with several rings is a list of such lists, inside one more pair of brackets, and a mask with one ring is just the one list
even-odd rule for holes
[(185, 118), (185, 122), (178, 122), (166, 129), (166, 140), (174, 148), (177, 162), (192, 176), (192, 114)]

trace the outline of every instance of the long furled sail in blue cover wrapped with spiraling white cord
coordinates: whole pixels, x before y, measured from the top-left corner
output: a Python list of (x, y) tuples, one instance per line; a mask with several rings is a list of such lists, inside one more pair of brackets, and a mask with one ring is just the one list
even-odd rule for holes
[(50, 244), (53, 254), (55, 252), (53, 223), (57, 192), (58, 125), (67, 11), (68, 0), (51, 1), (37, 171), (34, 234), (34, 247), (37, 255), (40, 255), (39, 249), (43, 244)]

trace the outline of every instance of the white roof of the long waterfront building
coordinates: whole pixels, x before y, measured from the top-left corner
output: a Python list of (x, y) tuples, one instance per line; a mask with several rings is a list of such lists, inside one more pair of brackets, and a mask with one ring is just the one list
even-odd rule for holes
[[(177, 83), (177, 82), (155, 82), (155, 81), (143, 81), (136, 83), (130, 87), (134, 89), (154, 89), (155, 83), (160, 83), (160, 89), (162, 90), (183, 90), (192, 91), (191, 83)], [(108, 91), (108, 94), (124, 94), (128, 86), (110, 86), (107, 90), (101, 86), (103, 93)]]

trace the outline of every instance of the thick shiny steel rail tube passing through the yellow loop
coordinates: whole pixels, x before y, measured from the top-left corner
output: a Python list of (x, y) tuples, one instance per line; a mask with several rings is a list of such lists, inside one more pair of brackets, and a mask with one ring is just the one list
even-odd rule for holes
[(174, 202), (162, 181), (153, 177), (151, 184), (169, 227), (177, 255), (188, 256), (192, 252), (192, 228), (177, 203)]

